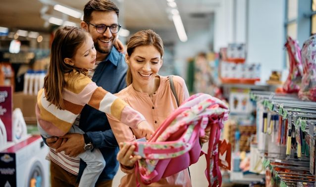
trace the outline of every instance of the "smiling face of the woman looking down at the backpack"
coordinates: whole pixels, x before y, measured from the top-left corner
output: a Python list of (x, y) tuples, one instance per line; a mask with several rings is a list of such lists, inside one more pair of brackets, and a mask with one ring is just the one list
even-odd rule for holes
[(126, 62), (130, 66), (134, 86), (154, 84), (162, 65), (161, 54), (153, 45), (136, 47), (131, 56), (126, 55)]

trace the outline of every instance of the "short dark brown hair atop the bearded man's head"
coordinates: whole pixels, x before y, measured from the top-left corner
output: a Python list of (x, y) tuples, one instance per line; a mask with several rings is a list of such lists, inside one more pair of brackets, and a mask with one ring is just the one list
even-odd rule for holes
[(110, 0), (89, 0), (83, 9), (83, 21), (90, 21), (93, 11), (114, 11), (118, 17), (119, 10)]

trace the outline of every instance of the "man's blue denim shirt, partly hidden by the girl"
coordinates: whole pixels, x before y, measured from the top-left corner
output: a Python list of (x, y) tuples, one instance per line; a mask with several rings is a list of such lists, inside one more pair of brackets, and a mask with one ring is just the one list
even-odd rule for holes
[[(126, 71), (125, 56), (112, 47), (106, 59), (98, 65), (92, 81), (110, 93), (118, 93), (126, 87)], [(79, 128), (86, 132), (94, 147), (100, 149), (105, 159), (105, 169), (99, 180), (112, 180), (119, 165), (116, 160), (118, 144), (105, 113), (85, 105), (81, 112)], [(85, 167), (86, 163), (80, 160), (78, 180)]]

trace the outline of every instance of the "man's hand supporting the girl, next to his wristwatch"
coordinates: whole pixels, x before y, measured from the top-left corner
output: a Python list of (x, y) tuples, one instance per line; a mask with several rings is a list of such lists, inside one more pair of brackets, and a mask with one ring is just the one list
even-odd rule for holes
[(65, 155), (70, 157), (76, 157), (78, 154), (84, 152), (83, 149), (85, 145), (85, 140), (83, 139), (83, 135), (81, 134), (67, 134), (63, 137), (67, 141), (65, 141), (59, 148), (56, 149), (56, 152), (64, 151)]

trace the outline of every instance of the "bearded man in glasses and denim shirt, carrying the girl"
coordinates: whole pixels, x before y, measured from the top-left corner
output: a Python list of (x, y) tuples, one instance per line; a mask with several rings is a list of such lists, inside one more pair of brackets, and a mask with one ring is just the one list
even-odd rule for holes
[[(84, 7), (81, 22), (81, 27), (91, 34), (97, 50), (96, 66), (89, 76), (110, 93), (117, 93), (126, 87), (124, 55), (113, 47), (120, 28), (118, 14), (118, 8), (109, 0), (90, 0)], [(49, 153), (52, 187), (77, 186), (86, 164), (76, 156), (83, 151), (93, 151), (93, 148), (99, 148), (105, 158), (105, 169), (96, 186), (111, 187), (118, 169), (118, 145), (105, 113), (86, 105), (76, 122), (85, 132), (84, 135), (68, 134), (59, 139), (47, 139), (47, 144), (56, 148)]]

